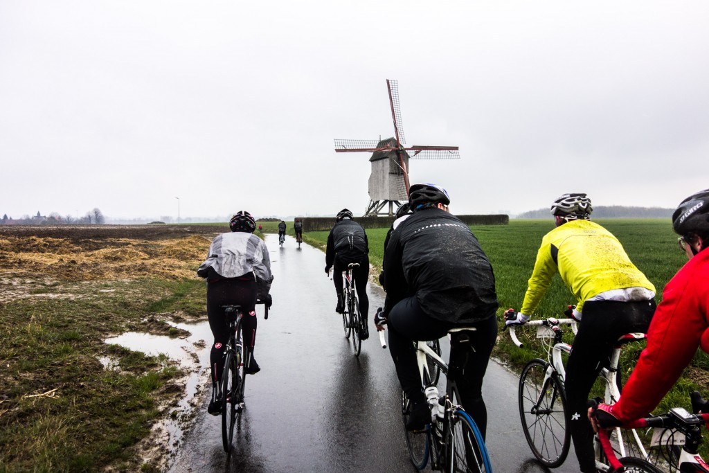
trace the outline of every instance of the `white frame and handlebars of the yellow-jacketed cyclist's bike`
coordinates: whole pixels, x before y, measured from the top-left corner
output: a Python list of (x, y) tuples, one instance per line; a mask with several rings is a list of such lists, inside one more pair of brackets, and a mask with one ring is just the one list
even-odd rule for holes
[[(529, 321), (525, 325), (537, 325), (537, 338), (554, 338), (554, 332), (547, 325), (548, 320), (549, 319)], [(576, 327), (576, 321), (573, 318), (559, 318), (557, 319), (557, 321), (559, 322), (559, 325), (570, 324), (571, 330), (574, 332), (574, 335), (576, 335), (578, 328)], [(512, 341), (515, 345), (521, 348), (523, 346), (523, 343), (521, 343), (520, 340), (517, 338), (517, 335), (515, 335), (515, 325), (510, 325), (509, 327), (510, 338), (512, 338)], [(637, 340), (642, 340), (643, 338), (645, 338), (644, 333), (634, 333), (632, 335), (635, 335), (635, 338)], [(552, 376), (554, 371), (556, 371), (557, 374), (559, 374), (559, 381), (562, 383), (562, 386), (564, 385), (564, 379), (566, 379), (566, 369), (564, 369), (562, 353), (565, 353), (566, 356), (568, 356), (569, 353), (571, 353), (571, 345), (569, 345), (568, 343), (557, 343), (554, 345), (554, 347), (552, 347), (552, 360), (551, 365), (547, 367), (547, 374), (545, 375), (544, 379), (545, 383), (547, 382), (547, 379)], [(605, 404), (615, 404), (616, 402), (618, 402), (618, 399), (620, 399), (620, 392), (618, 392), (618, 384), (616, 382), (616, 377), (618, 376), (618, 360), (620, 360), (620, 347), (615, 347), (613, 349), (613, 353), (610, 355), (610, 368), (603, 368), (601, 369), (601, 372), (598, 373), (598, 377), (603, 379), (603, 382), (605, 382), (605, 396), (603, 398)], [(640, 453), (642, 453), (642, 457), (647, 460), (647, 451), (645, 450), (644, 445), (642, 445), (642, 441), (640, 441), (640, 436), (637, 435), (635, 429), (631, 430), (633, 439), (635, 440), (635, 444), (637, 445), (638, 450), (640, 450)], [(618, 449), (620, 450), (620, 457), (625, 457), (625, 443), (623, 442), (623, 438), (620, 435), (620, 428), (615, 428), (615, 437), (618, 439)], [(602, 450), (601, 445), (598, 444), (598, 442), (596, 442), (595, 449), (596, 458), (598, 458), (599, 453)], [(609, 467), (607, 464), (603, 464), (601, 462), (596, 461), (596, 468), (601, 469), (602, 471), (606, 471)]]

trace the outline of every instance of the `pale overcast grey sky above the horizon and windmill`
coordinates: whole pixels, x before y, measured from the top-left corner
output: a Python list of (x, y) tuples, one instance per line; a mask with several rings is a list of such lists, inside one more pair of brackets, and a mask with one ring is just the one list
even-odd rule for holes
[(454, 213), (709, 187), (709, 2), (0, 2), (0, 216), (364, 212), (393, 135)]

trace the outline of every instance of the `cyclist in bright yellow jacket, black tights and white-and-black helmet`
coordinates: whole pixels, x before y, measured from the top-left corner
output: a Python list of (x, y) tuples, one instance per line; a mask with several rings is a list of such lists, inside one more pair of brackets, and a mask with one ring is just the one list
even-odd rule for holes
[(557, 272), (578, 299), (572, 316), (581, 323), (566, 363), (564, 389), (571, 439), (584, 473), (596, 473), (593, 430), (586, 416), (593, 382), (608, 366), (615, 341), (626, 333), (646, 332), (655, 309), (654, 286), (632, 264), (618, 238), (591, 222), (592, 211), (586, 194), (564, 194), (554, 201), (556, 228), (542, 238), (522, 309), (505, 313), (507, 325), (526, 323)]

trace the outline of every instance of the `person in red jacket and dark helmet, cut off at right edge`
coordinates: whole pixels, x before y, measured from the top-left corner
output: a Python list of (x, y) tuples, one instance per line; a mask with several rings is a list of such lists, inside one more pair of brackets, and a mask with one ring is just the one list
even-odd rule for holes
[(601, 404), (602, 428), (647, 416), (674, 386), (700, 347), (709, 352), (709, 189), (677, 207), (672, 227), (689, 261), (667, 283), (647, 331), (647, 347), (613, 406)]

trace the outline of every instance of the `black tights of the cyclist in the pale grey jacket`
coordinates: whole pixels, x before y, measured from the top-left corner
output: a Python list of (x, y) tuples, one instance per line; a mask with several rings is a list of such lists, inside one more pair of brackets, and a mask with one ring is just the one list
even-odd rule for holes
[(214, 343), (209, 354), (212, 382), (221, 379), (225, 344), (229, 340), (229, 325), (220, 306), (236, 304), (244, 311), (242, 333), (244, 345), (253, 352), (256, 340), (256, 281), (255, 279), (220, 279), (207, 284), (207, 317)]

